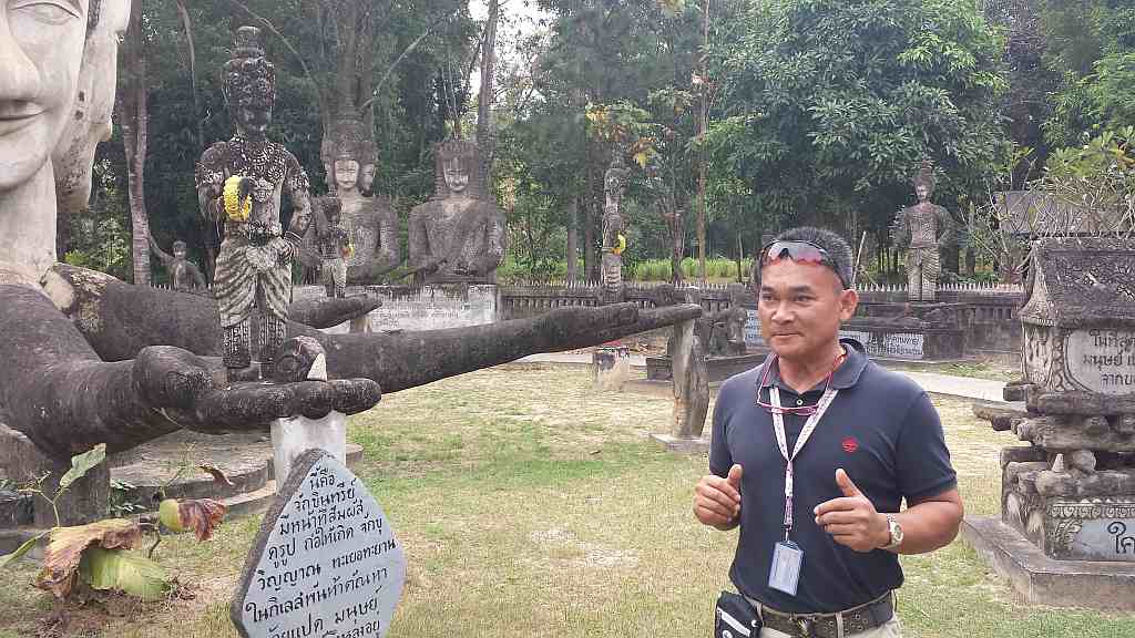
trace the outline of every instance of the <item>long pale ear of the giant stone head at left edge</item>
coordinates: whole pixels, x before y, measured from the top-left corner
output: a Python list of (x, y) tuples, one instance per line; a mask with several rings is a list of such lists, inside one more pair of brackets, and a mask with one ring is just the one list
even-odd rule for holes
[(75, 115), (66, 119), (64, 134), (51, 156), (56, 199), (60, 207), (73, 212), (86, 208), (95, 149), (99, 142), (110, 140), (118, 37), (126, 31), (129, 10), (129, 0), (102, 0), (99, 23), (87, 35), (83, 50)]

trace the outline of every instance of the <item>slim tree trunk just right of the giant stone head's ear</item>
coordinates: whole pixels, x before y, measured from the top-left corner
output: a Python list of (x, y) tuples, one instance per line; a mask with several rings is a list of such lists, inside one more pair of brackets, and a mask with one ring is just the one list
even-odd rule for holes
[(126, 181), (129, 193), (134, 283), (150, 284), (150, 216), (145, 209), (146, 156), (146, 65), (145, 34), (142, 30), (142, 2), (131, 6), (129, 26), (123, 41), (125, 86), (123, 91), (123, 143), (126, 151)]

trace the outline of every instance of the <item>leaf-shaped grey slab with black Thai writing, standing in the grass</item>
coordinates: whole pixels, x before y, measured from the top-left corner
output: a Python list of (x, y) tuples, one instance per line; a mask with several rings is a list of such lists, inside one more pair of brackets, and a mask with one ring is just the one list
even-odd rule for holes
[(295, 460), (229, 608), (244, 638), (381, 638), (406, 560), (381, 506), (321, 450)]

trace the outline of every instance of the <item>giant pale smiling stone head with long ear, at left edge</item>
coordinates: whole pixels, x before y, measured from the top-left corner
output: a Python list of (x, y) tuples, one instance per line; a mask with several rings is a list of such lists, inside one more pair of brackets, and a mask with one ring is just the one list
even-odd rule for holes
[[(94, 146), (110, 127), (117, 34), (126, 28), (129, 2), (6, 2), (0, 12), (7, 23), (0, 32), (0, 193), (27, 183), (62, 146), (74, 196), (85, 204), (89, 179), (81, 186), (73, 174), (90, 175)], [(86, 50), (103, 36), (104, 47)]]

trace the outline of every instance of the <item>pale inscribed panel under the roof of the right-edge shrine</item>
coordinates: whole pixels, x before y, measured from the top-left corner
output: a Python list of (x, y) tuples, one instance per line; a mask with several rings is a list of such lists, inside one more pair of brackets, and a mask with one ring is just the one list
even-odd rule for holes
[(1065, 339), (1065, 352), (1069, 376), (1087, 389), (1135, 393), (1135, 333), (1074, 330)]

